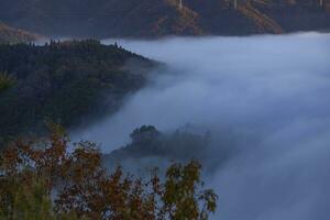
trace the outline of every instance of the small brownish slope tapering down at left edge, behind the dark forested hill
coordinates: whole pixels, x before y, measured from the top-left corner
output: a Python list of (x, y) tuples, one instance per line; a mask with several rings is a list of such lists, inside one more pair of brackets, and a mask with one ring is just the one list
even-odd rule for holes
[(31, 42), (40, 38), (36, 34), (10, 28), (0, 22), (0, 43)]

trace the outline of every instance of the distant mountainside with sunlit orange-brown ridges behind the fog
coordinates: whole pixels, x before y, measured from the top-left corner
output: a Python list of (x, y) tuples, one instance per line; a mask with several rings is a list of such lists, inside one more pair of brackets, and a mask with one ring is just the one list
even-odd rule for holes
[(11, 0), (0, 19), (51, 36), (245, 35), (330, 29), (330, 0)]

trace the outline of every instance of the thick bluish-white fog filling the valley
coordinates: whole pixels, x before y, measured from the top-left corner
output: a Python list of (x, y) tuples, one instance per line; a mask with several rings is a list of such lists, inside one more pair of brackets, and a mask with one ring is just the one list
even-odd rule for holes
[[(219, 195), (215, 219), (330, 219), (329, 34), (118, 43), (168, 68), (78, 136), (110, 152), (142, 124), (228, 135), (235, 154), (206, 179)], [(216, 160), (226, 144), (213, 144)]]

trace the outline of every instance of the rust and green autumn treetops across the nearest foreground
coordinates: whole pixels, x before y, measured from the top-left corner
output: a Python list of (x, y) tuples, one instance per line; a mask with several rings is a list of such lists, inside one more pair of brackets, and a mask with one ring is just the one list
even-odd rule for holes
[(47, 140), (23, 140), (0, 155), (1, 219), (207, 220), (217, 195), (204, 189), (200, 164), (173, 164), (150, 180), (108, 172), (91, 142), (72, 147), (52, 124)]

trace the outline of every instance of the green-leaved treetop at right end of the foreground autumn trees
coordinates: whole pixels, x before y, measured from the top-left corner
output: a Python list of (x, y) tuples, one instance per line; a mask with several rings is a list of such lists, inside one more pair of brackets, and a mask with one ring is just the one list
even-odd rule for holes
[[(212, 190), (198, 191), (200, 164), (191, 161), (186, 166), (172, 165), (166, 172), (165, 189), (162, 196), (164, 219), (208, 219), (217, 208), (217, 196)], [(200, 205), (202, 205), (200, 207)]]

